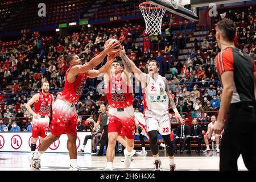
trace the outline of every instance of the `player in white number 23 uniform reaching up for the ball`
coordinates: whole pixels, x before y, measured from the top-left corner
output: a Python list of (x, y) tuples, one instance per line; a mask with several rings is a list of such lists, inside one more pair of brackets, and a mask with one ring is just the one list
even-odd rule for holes
[(119, 56), (122, 58), (126, 69), (130, 69), (142, 84), (144, 115), (146, 117), (147, 132), (150, 137), (150, 150), (155, 160), (155, 170), (159, 171), (161, 166), (157, 145), (159, 131), (166, 144), (166, 151), (170, 159), (170, 169), (174, 171), (174, 144), (170, 138), (171, 122), (168, 113), (169, 108), (174, 110), (175, 117), (179, 122), (181, 121), (181, 116), (176, 109), (174, 100), (168, 94), (167, 79), (158, 74), (159, 64), (154, 60), (151, 60), (148, 64), (148, 74), (146, 74), (129, 59), (125, 54), (124, 48), (120, 49)]

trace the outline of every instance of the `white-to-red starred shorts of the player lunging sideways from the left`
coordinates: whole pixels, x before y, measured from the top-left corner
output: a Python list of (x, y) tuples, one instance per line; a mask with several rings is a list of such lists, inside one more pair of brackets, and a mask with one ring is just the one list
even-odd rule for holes
[(51, 133), (77, 135), (77, 112), (74, 104), (57, 99), (52, 106)]

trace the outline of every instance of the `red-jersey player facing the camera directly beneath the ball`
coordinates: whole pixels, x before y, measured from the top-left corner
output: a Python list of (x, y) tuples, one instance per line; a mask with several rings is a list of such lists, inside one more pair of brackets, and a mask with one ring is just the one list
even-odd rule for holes
[[(108, 57), (109, 58), (109, 57)], [(111, 57), (109, 59), (115, 59)], [(135, 121), (133, 109), (133, 89), (129, 73), (115, 60), (111, 68), (104, 75), (106, 94), (110, 105), (108, 127), (108, 149), (106, 152), (107, 166), (105, 170), (113, 170), (114, 147), (118, 134), (123, 133), (126, 137), (125, 167), (129, 168), (131, 153), (134, 147)]]

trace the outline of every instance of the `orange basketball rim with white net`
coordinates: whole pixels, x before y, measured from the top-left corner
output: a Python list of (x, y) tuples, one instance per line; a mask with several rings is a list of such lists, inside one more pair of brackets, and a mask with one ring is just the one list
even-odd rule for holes
[(161, 25), (164, 13), (166, 10), (162, 7), (152, 5), (150, 2), (139, 4), (139, 9), (146, 23), (146, 34), (161, 34)]

